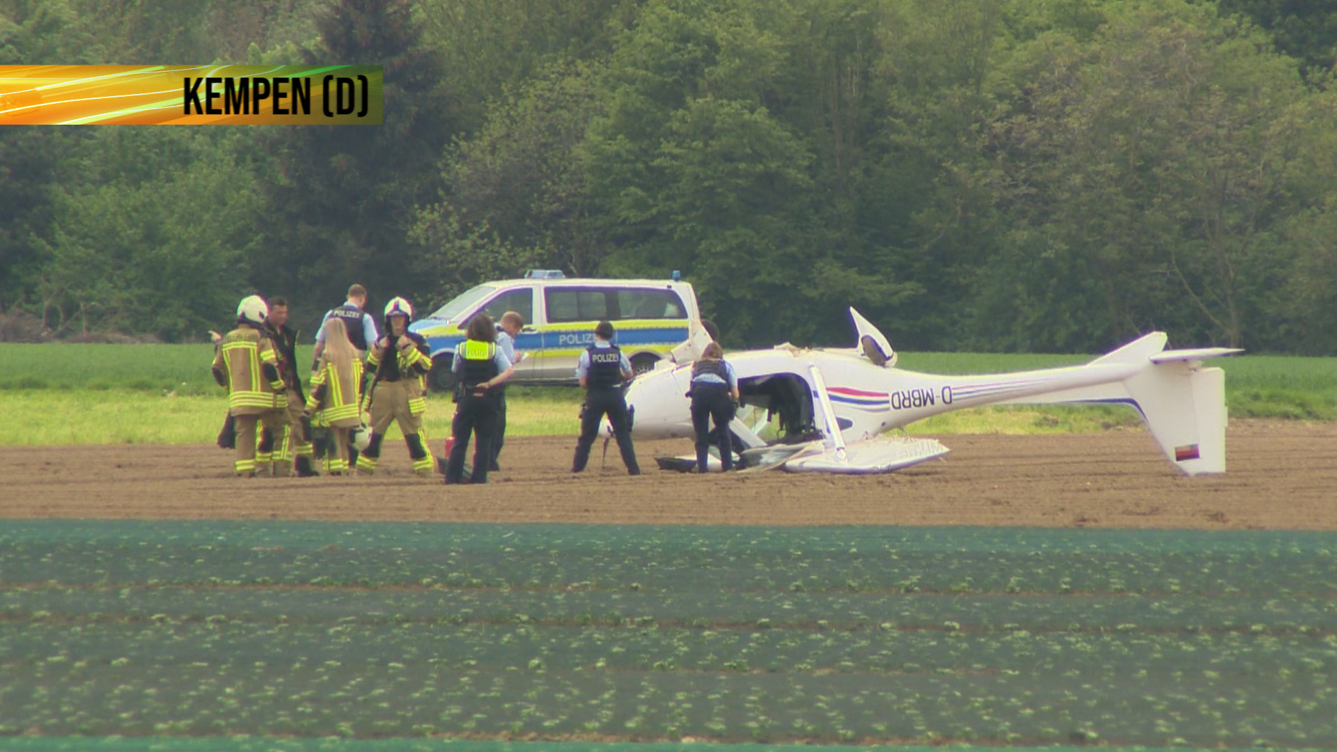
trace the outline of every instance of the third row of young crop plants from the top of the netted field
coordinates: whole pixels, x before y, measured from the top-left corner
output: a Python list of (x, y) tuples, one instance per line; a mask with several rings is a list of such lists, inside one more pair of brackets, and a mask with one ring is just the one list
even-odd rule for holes
[[(19, 614), (12, 614), (17, 617)], [(1337, 636), (1255, 632), (1034, 633), (989, 632), (675, 629), (636, 626), (441, 625), (338, 620), (321, 624), (237, 622), (221, 617), (176, 621), (56, 621), (36, 614), (0, 626), (0, 650), (52, 670), (75, 657), (95, 665), (116, 661), (211, 665), (257, 660), (361, 662), (432, 660), (439, 669), (500, 666), (554, 672), (783, 672), (861, 673), (1058, 673), (1209, 678), (1222, 685), (1259, 677), (1316, 681), (1337, 674)], [(21, 629), (16, 625), (21, 625)], [(134, 640), (128, 640), (134, 638)], [(28, 658), (24, 658), (28, 657)], [(87, 668), (83, 666), (83, 668)], [(416, 666), (421, 670), (422, 666)], [(410, 672), (413, 673), (413, 672)]]

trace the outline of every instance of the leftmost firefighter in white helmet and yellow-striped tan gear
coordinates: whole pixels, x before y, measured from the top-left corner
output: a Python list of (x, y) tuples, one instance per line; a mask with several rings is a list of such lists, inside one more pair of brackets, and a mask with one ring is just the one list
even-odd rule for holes
[(227, 409), (237, 420), (234, 467), (242, 476), (255, 475), (255, 426), (263, 423), (275, 436), (283, 432), (287, 387), (278, 373), (274, 345), (263, 332), (267, 314), (269, 306), (259, 296), (242, 298), (237, 328), (223, 336), (214, 356), (214, 380), (227, 388)]

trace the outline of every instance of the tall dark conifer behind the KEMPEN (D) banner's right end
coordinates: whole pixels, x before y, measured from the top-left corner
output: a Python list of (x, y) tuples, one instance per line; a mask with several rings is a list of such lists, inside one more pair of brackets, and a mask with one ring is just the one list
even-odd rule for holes
[(432, 96), (441, 78), (437, 60), (420, 45), (408, 0), (341, 0), (320, 16), (321, 41), (308, 63), (384, 66), (385, 124), (301, 126), (266, 132), (265, 151), (279, 170), (269, 186), (275, 206), (266, 233), (270, 264), (255, 272), (257, 286), (294, 301), (294, 316), (314, 326), (353, 282), (372, 301), (425, 293), (413, 273), (408, 229), (414, 210), (432, 195), (432, 155), (447, 139)]

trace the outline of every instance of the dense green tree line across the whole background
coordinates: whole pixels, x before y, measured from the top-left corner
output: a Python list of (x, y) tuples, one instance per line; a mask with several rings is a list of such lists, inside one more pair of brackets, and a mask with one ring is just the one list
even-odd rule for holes
[[(726, 344), (1337, 353), (1300, 0), (0, 0), (0, 64), (372, 63), (386, 124), (0, 127), (0, 312), (198, 339), (681, 269)], [(373, 304), (376, 302), (373, 300)]]

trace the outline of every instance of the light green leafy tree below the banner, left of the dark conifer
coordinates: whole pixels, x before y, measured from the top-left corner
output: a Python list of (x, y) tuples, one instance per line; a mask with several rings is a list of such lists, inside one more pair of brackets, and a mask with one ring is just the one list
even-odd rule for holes
[[(247, 292), (254, 177), (195, 128), (99, 128), (53, 194), (39, 241), (43, 316), (57, 331), (203, 336)], [(74, 175), (78, 175), (75, 178)]]

